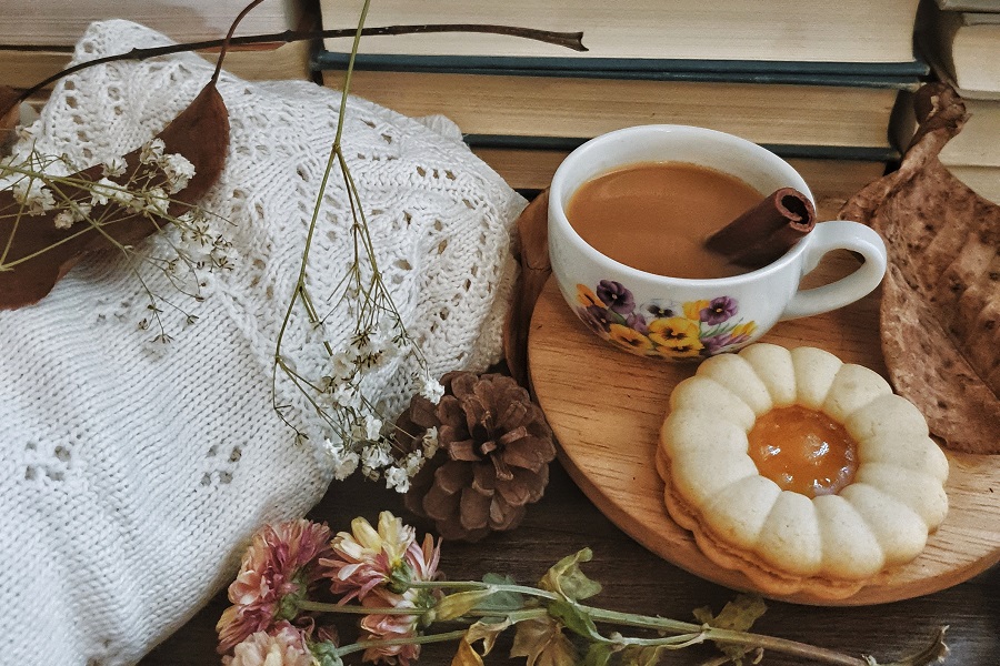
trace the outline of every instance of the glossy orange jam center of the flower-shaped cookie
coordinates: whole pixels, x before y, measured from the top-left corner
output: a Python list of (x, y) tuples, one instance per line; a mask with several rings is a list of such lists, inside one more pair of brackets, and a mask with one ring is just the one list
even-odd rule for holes
[(836, 495), (858, 468), (858, 445), (844, 427), (801, 405), (761, 415), (749, 438), (760, 475), (807, 497)]

